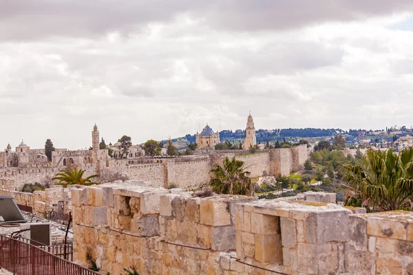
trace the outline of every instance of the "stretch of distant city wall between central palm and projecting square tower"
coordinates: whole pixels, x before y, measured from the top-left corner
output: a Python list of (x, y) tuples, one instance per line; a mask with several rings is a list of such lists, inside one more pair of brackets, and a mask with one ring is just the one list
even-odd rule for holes
[(251, 173), (250, 177), (260, 177), (270, 172), (270, 154), (254, 153), (248, 155), (236, 155), (235, 159), (244, 162), (244, 167)]

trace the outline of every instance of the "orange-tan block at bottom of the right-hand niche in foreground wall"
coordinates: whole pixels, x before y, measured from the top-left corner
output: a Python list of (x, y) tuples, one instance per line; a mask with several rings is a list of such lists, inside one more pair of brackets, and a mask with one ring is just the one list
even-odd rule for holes
[(281, 235), (255, 235), (255, 260), (282, 263)]

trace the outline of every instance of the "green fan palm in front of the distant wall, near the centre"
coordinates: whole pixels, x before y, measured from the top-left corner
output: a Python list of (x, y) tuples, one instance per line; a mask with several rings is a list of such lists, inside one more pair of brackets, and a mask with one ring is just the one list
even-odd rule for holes
[(254, 192), (251, 173), (244, 168), (244, 162), (235, 159), (224, 159), (222, 166), (215, 164), (211, 169), (213, 178), (209, 184), (213, 187), (214, 192), (231, 195), (252, 196)]

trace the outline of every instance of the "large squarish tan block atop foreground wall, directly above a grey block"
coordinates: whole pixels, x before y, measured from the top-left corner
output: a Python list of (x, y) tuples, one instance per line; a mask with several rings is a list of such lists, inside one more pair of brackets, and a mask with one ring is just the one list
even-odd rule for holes
[(200, 223), (212, 226), (231, 225), (229, 202), (202, 199), (200, 202)]

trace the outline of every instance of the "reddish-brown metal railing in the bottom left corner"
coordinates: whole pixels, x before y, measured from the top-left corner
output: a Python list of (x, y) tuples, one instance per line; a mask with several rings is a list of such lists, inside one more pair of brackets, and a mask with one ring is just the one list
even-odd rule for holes
[(100, 275), (36, 245), (0, 235), (0, 268), (16, 275)]

